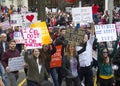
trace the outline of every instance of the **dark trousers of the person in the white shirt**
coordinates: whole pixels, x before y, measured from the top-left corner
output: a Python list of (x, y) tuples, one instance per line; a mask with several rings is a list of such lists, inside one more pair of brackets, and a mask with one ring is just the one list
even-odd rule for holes
[(81, 81), (85, 79), (85, 86), (94, 86), (92, 66), (80, 67), (79, 77)]

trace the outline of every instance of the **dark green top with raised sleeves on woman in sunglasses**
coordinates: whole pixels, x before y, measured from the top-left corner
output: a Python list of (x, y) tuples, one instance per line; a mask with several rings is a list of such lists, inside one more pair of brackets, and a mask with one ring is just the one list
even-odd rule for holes
[[(114, 56), (116, 50), (117, 50), (117, 44), (118, 44), (119, 39), (115, 42), (113, 46), (113, 51), (109, 55), (110, 59)], [(98, 68), (99, 68), (99, 75), (103, 76), (111, 76), (113, 75), (113, 70), (112, 70), (112, 64), (111, 63), (106, 63), (103, 64), (103, 58), (102, 58), (102, 51), (100, 49), (99, 44), (97, 43), (97, 48), (98, 48)]]

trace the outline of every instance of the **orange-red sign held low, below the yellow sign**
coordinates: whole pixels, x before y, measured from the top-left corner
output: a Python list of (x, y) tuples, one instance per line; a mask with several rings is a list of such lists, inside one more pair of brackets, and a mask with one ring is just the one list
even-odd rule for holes
[(61, 67), (62, 65), (61, 50), (62, 50), (62, 45), (56, 46), (56, 53), (52, 55), (50, 68)]

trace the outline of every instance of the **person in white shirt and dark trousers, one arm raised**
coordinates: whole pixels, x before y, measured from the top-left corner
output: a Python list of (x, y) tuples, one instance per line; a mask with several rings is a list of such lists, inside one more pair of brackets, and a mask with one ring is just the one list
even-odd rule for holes
[[(91, 25), (90, 33), (86, 32), (84, 35), (84, 42), (86, 43), (85, 51), (79, 54), (79, 77), (84, 80), (85, 86), (93, 86), (93, 71), (92, 71), (92, 46), (95, 39), (94, 24)], [(77, 51), (83, 49), (83, 46), (77, 46)]]

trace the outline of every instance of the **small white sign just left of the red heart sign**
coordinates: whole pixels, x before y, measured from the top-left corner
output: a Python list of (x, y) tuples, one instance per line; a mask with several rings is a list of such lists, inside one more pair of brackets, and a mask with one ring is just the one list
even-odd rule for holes
[(21, 14), (10, 15), (10, 24), (11, 26), (22, 26), (22, 15)]

